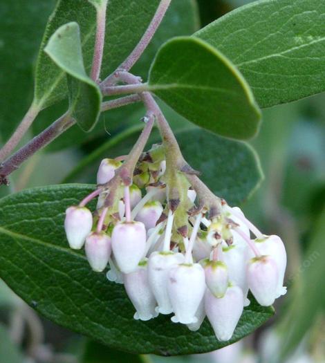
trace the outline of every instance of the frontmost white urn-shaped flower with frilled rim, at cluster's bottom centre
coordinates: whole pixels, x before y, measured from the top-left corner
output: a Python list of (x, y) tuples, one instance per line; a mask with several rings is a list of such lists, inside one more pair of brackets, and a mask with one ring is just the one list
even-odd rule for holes
[(203, 267), (199, 263), (183, 263), (171, 268), (167, 288), (175, 313), (171, 321), (181, 324), (198, 322), (195, 315), (205, 292)]

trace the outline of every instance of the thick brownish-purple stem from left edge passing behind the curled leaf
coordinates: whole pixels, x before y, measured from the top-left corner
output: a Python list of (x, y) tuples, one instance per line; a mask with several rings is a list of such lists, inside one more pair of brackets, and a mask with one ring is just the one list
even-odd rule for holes
[[(116, 109), (120, 106), (124, 106), (133, 102), (137, 102), (136, 97), (134, 96), (121, 97), (116, 100), (104, 102), (102, 104), (102, 111)], [(55, 140), (57, 136), (60, 136), (62, 133), (64, 133), (64, 131), (72, 127), (74, 124), (75, 120), (71, 118), (68, 113), (65, 113), (55, 122), (53, 122), (53, 124), (51, 124), (47, 129), (39, 133), (37, 136), (35, 136), (35, 138), (32, 138), (30, 142), (19, 149), (0, 166), (0, 185), (8, 184), (8, 175), (17, 170), (24, 161), (30, 158), (30, 156), (43, 147), (46, 147), (46, 145)]]

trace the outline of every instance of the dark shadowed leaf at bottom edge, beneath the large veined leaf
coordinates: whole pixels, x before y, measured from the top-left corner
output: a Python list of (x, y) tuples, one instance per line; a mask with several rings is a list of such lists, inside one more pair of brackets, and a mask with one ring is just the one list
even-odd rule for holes
[(88, 341), (81, 363), (151, 363), (145, 355), (133, 355), (109, 348), (97, 342)]

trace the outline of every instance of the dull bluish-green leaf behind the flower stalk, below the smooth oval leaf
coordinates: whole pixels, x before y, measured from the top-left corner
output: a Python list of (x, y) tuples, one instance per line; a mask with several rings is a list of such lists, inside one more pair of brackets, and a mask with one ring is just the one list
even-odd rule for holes
[(228, 140), (202, 129), (176, 134), (185, 159), (214, 194), (230, 205), (250, 197), (263, 178), (259, 158), (245, 142)]

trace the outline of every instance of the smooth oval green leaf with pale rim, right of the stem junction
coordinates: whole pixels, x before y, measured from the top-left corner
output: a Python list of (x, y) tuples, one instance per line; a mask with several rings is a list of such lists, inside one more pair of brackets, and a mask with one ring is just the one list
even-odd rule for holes
[(167, 41), (151, 66), (149, 89), (187, 120), (221, 136), (250, 138), (257, 132), (260, 113), (248, 84), (200, 39)]

